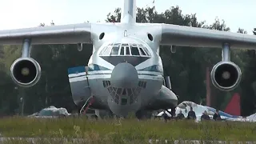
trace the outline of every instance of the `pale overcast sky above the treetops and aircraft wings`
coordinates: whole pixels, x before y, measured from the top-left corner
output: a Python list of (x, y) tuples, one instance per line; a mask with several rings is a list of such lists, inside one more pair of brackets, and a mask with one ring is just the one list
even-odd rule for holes
[[(207, 24), (212, 24), (216, 17), (224, 19), (233, 32), (240, 26), (248, 31), (248, 34), (252, 34), (251, 30), (256, 26), (255, 18), (251, 18), (256, 1), (154, 0), (154, 4), (152, 2), (153, 0), (137, 0), (137, 6), (155, 6), (158, 12), (163, 12), (171, 6), (179, 6), (183, 14), (196, 13), (198, 21), (206, 20)], [(122, 0), (0, 0), (0, 3), (0, 30), (38, 26), (38, 23), (50, 23), (52, 20), (56, 25), (86, 21), (103, 22), (106, 14), (117, 7), (122, 7)]]

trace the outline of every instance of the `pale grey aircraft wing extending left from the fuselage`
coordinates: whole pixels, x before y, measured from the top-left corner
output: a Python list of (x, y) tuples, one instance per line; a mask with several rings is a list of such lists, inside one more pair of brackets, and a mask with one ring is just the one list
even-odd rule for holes
[(90, 31), (90, 23), (0, 30), (0, 45), (22, 45), (25, 38), (32, 45), (91, 43)]

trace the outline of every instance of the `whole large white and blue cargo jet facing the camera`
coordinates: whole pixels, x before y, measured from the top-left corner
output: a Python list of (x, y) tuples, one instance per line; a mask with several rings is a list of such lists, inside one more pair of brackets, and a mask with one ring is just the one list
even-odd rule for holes
[[(241, 70), (230, 61), (230, 49), (256, 49), (256, 37), (226, 31), (164, 23), (137, 23), (136, 1), (123, 0), (121, 22), (88, 22), (1, 30), (0, 45), (22, 45), (22, 57), (10, 67), (18, 86), (34, 86), (40, 76), (38, 62), (30, 58), (30, 46), (48, 44), (93, 45), (87, 66), (68, 70), (74, 103), (90, 109), (126, 116), (134, 112), (174, 109), (177, 95), (163, 75), (159, 46), (222, 48), (222, 61), (211, 71), (220, 90), (233, 90)], [(166, 84), (164, 84), (166, 83)], [(93, 102), (92, 102), (93, 101)]]

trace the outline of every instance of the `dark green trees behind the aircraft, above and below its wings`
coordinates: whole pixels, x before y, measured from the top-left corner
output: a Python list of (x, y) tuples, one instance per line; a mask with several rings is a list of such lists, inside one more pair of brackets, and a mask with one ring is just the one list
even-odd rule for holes
[[(120, 9), (108, 14), (106, 22), (120, 22)], [(181, 26), (196, 26), (214, 30), (230, 30), (224, 21), (216, 18), (206, 26), (198, 22), (196, 14), (182, 14), (178, 6), (170, 7), (159, 14), (154, 7), (138, 8), (137, 22), (169, 23)], [(51, 23), (53, 25), (54, 23)], [(40, 26), (45, 26), (44, 23)], [(239, 33), (246, 33), (239, 29)], [(20, 98), (25, 99), (24, 113), (31, 114), (46, 106), (62, 106), (74, 110), (71, 98), (67, 69), (72, 66), (86, 66), (92, 46), (84, 46), (79, 52), (75, 45), (33, 46), (32, 57), (42, 66), (42, 78), (36, 86), (28, 89), (17, 88), (9, 77), (10, 65), (20, 56), (21, 46), (0, 47), (0, 73), (2, 76), (0, 94), (0, 112), (15, 114), (20, 110)], [(184, 100), (206, 104), (206, 67), (214, 66), (222, 60), (221, 49), (177, 47), (175, 54), (170, 47), (161, 47), (160, 54), (166, 75), (170, 75), (173, 90)], [(232, 50), (231, 60), (242, 70), (242, 82), (237, 89), (222, 92), (211, 86), (212, 106), (223, 109), (231, 95), (238, 92), (242, 96), (242, 115), (255, 113), (255, 77), (256, 67), (254, 50)], [(16, 89), (15, 89), (16, 87)]]

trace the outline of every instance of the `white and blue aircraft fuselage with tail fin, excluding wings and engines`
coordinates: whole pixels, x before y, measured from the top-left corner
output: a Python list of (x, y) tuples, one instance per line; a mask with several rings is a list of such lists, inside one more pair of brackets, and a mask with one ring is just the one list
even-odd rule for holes
[(162, 85), (163, 67), (159, 57), (162, 27), (136, 23), (135, 2), (124, 2), (121, 22), (91, 25), (93, 54), (88, 70), (85, 66), (69, 70), (74, 102), (83, 105), (93, 95), (91, 108), (108, 109), (123, 116), (142, 109), (176, 106), (178, 98)]

